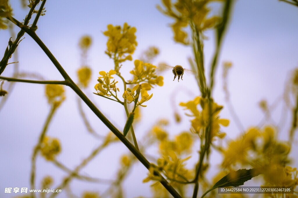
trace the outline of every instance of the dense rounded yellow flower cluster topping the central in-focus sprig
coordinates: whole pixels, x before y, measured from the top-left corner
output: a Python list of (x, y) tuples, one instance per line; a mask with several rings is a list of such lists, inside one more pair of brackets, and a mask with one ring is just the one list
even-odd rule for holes
[(105, 53), (114, 60), (123, 62), (132, 60), (131, 55), (138, 43), (136, 42), (136, 28), (124, 23), (123, 27), (108, 25), (108, 30), (103, 32), (108, 37), (107, 50)]

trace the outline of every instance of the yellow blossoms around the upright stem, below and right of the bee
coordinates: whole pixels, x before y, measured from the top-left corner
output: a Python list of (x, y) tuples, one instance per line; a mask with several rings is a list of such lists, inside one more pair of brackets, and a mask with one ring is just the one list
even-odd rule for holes
[[(198, 104), (201, 105), (202, 110), (198, 110)], [(214, 137), (224, 138), (225, 133), (220, 132), (220, 125), (228, 126), (229, 120), (219, 118), (222, 106), (219, 106), (215, 102), (211, 102), (211, 113), (209, 112), (209, 100), (202, 99), (201, 97), (196, 97), (193, 101), (181, 102), (180, 106), (185, 107), (186, 110), (190, 110), (191, 114), (186, 114), (188, 116), (194, 117), (191, 121), (191, 131), (193, 133), (199, 134), (201, 136), (203, 130), (209, 126), (209, 118), (211, 114), (211, 140)]]

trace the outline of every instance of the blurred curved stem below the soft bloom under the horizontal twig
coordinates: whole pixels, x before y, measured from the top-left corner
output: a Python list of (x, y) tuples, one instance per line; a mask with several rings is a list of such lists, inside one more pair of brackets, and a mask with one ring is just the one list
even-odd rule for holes
[[(42, 141), (44, 140), (44, 137), (46, 135), (46, 132), (48, 130), (48, 126), (49, 126), (49, 123), (50, 121), (52, 120), (53, 118), (53, 115), (55, 113), (55, 110), (57, 109), (57, 106), (53, 105), (52, 106), (52, 109), (48, 115), (48, 117), (46, 118), (46, 122), (44, 123), (44, 128), (39, 136), (39, 139), (38, 139), (38, 143), (37, 145), (35, 146), (34, 148), (34, 151), (33, 151), (33, 154), (32, 154), (32, 158), (31, 158), (31, 176), (30, 176), (30, 187), (31, 189), (35, 189), (35, 170), (36, 170), (36, 156), (40, 150), (40, 146), (41, 146), (41, 143)], [(35, 194), (32, 192), (31, 194), (32, 198), (35, 197)]]

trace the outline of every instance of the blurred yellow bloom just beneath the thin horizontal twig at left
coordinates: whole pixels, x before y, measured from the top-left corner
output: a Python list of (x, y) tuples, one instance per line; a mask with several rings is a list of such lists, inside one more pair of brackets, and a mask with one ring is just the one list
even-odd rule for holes
[(49, 104), (59, 106), (65, 100), (63, 85), (46, 85), (46, 97)]

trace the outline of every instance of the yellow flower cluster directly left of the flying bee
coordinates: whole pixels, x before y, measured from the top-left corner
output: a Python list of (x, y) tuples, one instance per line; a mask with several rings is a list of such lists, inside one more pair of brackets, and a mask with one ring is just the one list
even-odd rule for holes
[(164, 84), (164, 77), (156, 75), (156, 66), (140, 60), (135, 60), (134, 66), (134, 70), (130, 72), (134, 75), (134, 80), (130, 83), (142, 83), (142, 87), (146, 90), (153, 88), (153, 85), (162, 86)]

